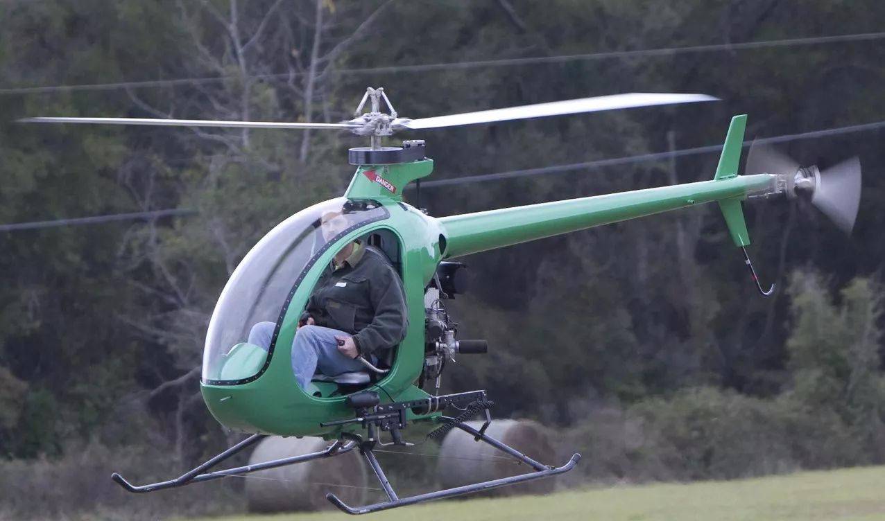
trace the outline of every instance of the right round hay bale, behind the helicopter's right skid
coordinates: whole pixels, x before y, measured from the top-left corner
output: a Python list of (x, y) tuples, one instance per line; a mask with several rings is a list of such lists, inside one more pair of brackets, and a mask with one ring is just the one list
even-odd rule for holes
[[(466, 422), (479, 429), (481, 422)], [(553, 464), (556, 453), (543, 426), (530, 420), (495, 420), (486, 434), (509, 445), (541, 464)], [(439, 477), (443, 488), (462, 487), (491, 479), (508, 478), (535, 471), (473, 436), (455, 428), (446, 434), (439, 454)], [(556, 486), (555, 479), (544, 478), (511, 487), (489, 490), (491, 495), (547, 494)]]

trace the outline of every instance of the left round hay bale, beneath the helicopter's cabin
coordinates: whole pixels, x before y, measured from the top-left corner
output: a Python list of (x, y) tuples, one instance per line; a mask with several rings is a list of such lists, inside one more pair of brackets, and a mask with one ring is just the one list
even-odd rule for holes
[[(270, 436), (258, 443), (249, 464), (318, 452), (330, 444), (330, 441), (322, 438)], [(348, 504), (366, 502), (366, 468), (358, 450), (341, 456), (257, 471), (248, 476), (252, 476), (246, 479), (250, 512), (328, 509), (332, 504), (326, 500), (327, 492), (334, 493)]]

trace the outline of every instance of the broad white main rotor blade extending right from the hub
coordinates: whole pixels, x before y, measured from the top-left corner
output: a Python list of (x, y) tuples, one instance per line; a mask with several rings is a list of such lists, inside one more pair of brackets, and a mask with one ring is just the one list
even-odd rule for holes
[(510, 119), (543, 118), (546, 116), (558, 116), (562, 114), (577, 114), (580, 112), (612, 111), (615, 109), (629, 109), (634, 107), (648, 107), (651, 105), (666, 105), (673, 103), (696, 103), (717, 101), (719, 98), (704, 94), (646, 94), (634, 92), (630, 94), (616, 94), (613, 96), (584, 97), (561, 102), (537, 103), (534, 105), (522, 105), (506, 109), (494, 109), (491, 111), (465, 112), (463, 114), (451, 114), (449, 116), (437, 116), (435, 118), (401, 119), (397, 124), (404, 128), (439, 128), (442, 126), (474, 125), (477, 123), (491, 123), (493, 121), (507, 121)]

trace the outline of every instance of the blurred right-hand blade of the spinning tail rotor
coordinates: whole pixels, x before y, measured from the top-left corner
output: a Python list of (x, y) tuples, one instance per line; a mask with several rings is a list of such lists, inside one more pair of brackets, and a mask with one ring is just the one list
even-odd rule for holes
[(855, 156), (820, 171), (812, 204), (827, 214), (836, 226), (850, 234), (860, 203), (860, 159)]

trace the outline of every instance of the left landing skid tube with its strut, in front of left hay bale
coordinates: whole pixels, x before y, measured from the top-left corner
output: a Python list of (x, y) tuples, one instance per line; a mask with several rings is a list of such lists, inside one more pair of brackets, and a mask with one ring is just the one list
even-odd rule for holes
[(218, 464), (222, 460), (227, 459), (230, 456), (235, 455), (237, 452), (240, 452), (243, 448), (247, 448), (256, 441), (265, 438), (264, 434), (253, 434), (249, 438), (237, 443), (234, 447), (228, 448), (226, 451), (222, 452), (218, 456), (213, 457), (211, 460), (207, 461), (204, 464), (197, 466), (195, 469), (188, 471), (182, 474), (180, 477), (176, 479), (170, 479), (169, 481), (161, 481), (159, 483), (151, 483), (150, 485), (142, 485), (142, 486), (134, 486), (130, 484), (126, 479), (120, 476), (118, 473), (114, 472), (111, 478), (119, 483), (120, 487), (125, 488), (129, 492), (133, 492), (136, 494), (143, 494), (145, 492), (153, 492), (155, 490), (162, 490), (164, 488), (174, 488), (174, 487), (184, 487), (185, 485), (190, 485), (191, 483), (197, 483), (200, 481), (208, 481), (210, 479), (219, 479), (226, 478), (227, 476), (237, 476), (239, 474), (247, 474), (249, 472), (254, 471), (263, 471), (266, 469), (274, 469), (276, 467), (282, 467), (285, 465), (291, 464), (300, 464), (306, 461), (311, 461), (314, 459), (319, 459), (323, 457), (331, 457), (338, 456), (341, 454), (345, 454), (350, 452), (357, 446), (353, 441), (348, 441), (347, 443), (343, 443), (341, 441), (335, 441), (332, 445), (329, 445), (327, 448), (320, 450), (319, 452), (312, 452), (310, 454), (304, 454), (302, 456), (291, 456), (284, 457), (281, 459), (275, 459), (269, 462), (261, 463), (261, 464), (253, 464), (253, 465), (244, 465), (242, 467), (235, 467), (233, 469), (226, 469), (224, 471), (214, 471), (214, 472), (206, 472), (204, 474), (200, 474), (200, 472), (205, 471), (206, 469), (212, 467), (212, 465)]

